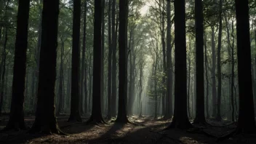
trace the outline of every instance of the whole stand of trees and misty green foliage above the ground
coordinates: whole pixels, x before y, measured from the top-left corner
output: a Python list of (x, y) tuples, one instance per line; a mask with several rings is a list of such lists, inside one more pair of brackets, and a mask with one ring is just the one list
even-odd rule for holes
[(10, 114), (7, 129), (25, 128), (24, 116), (36, 116), (32, 131), (53, 133), (62, 133), (52, 126), (55, 115), (89, 117), (87, 124), (174, 116), (170, 127), (181, 129), (193, 120), (236, 124), (244, 111), (255, 121), (256, 3), (242, 3), (1, 0), (0, 113)]

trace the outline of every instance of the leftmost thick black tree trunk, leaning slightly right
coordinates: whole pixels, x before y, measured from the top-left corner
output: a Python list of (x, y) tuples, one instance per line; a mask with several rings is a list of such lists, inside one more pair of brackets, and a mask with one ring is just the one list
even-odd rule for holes
[(19, 1), (15, 64), (12, 81), (12, 105), (9, 121), (5, 129), (25, 129), (23, 108), (25, 97), (26, 52), (28, 48), (29, 5), (30, 0)]

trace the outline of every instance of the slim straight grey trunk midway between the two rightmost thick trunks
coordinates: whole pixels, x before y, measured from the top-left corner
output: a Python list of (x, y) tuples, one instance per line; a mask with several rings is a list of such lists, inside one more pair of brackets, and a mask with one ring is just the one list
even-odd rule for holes
[(221, 116), (220, 116), (220, 105), (221, 105), (221, 57), (220, 57), (220, 52), (221, 52), (221, 39), (223, 35), (223, 18), (222, 18), (222, 13), (223, 13), (223, 0), (220, 0), (220, 9), (219, 9), (219, 20), (220, 20), (220, 25), (219, 25), (219, 37), (218, 37), (218, 43), (217, 43), (217, 116), (216, 120), (220, 121)]

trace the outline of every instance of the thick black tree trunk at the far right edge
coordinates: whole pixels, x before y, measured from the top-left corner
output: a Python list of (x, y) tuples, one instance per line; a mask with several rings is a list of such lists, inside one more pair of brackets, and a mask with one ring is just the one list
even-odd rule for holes
[(239, 73), (239, 120), (236, 132), (255, 133), (248, 0), (236, 0), (236, 31)]

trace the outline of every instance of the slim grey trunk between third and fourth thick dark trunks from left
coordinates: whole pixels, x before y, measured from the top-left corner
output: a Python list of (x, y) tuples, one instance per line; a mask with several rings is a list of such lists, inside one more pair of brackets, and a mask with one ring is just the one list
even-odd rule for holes
[[(84, 105), (87, 105), (87, 90), (86, 90), (86, 81), (87, 79), (84, 79), (86, 77), (85, 71), (85, 50), (86, 50), (86, 33), (87, 33), (87, 0), (84, 0), (84, 22), (83, 22), (83, 44), (81, 49), (81, 87), (80, 87), (80, 113), (87, 113), (87, 111), (84, 111), (84, 109), (87, 109), (86, 107), (83, 108)], [(84, 104), (84, 105), (83, 105)]]

